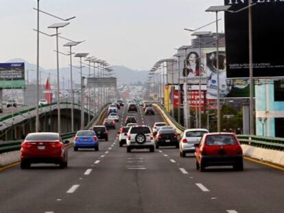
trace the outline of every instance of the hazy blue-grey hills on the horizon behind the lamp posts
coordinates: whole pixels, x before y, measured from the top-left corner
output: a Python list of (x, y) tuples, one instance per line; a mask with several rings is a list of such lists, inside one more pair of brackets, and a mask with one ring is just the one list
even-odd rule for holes
[[(27, 62), (26, 60), (23, 60), (21, 58), (14, 58), (12, 60), (8, 60), (7, 63), (12, 62), (24, 62), (25, 63), (25, 70), (26, 70), (26, 79), (27, 79), (27, 70), (29, 73), (29, 82), (35, 82), (36, 81), (36, 64), (31, 64)], [(126, 66), (112, 66), (115, 73), (117, 73), (117, 81), (121, 84), (130, 84), (130, 83), (136, 83), (136, 82), (145, 82), (147, 77), (147, 71), (134, 71)], [(51, 82), (56, 82), (56, 76), (57, 71), (56, 69), (46, 69), (43, 67), (40, 67), (40, 75), (42, 82), (41, 84), (45, 84), (45, 81), (47, 77), (51, 76)], [(91, 70), (93, 73), (93, 68)], [(88, 75), (88, 68), (85, 66), (83, 68), (83, 73), (85, 75)], [(60, 85), (64, 88), (67, 88), (69, 85), (68, 79), (70, 74), (70, 68), (69, 67), (62, 67), (60, 68)], [(64, 79), (63, 79), (64, 78)], [(80, 72), (76, 71), (76, 68), (73, 68), (73, 80), (75, 83), (80, 84)]]

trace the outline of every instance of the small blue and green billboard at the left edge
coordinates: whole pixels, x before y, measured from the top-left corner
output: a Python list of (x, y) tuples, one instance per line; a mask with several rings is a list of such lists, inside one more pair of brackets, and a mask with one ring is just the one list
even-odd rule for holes
[(0, 63), (0, 88), (25, 88), (25, 63)]

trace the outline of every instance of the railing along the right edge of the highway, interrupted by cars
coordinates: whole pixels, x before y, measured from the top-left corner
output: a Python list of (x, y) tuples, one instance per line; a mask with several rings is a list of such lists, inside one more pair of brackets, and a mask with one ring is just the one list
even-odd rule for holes
[[(185, 127), (182, 127), (176, 120), (171, 117), (169, 112), (165, 110), (161, 103), (154, 104), (156, 109), (158, 109), (162, 116), (167, 120), (167, 122), (174, 124), (176, 129), (180, 131), (185, 131)], [(244, 145), (250, 145), (252, 147), (259, 147), (263, 149), (273, 149), (278, 151), (284, 151), (284, 138), (272, 138), (263, 136), (250, 136), (250, 135), (237, 135), (239, 142)]]

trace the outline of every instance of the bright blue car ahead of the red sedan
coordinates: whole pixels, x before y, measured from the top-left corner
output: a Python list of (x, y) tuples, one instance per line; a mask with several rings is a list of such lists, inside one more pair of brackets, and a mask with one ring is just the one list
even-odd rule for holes
[(99, 139), (97, 138), (95, 131), (77, 131), (74, 138), (74, 151), (78, 151), (78, 148), (93, 148), (95, 151), (99, 151)]

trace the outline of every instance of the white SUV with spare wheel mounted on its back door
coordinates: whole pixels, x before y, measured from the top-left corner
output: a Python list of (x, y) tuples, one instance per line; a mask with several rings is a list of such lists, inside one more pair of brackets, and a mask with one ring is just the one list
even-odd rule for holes
[(150, 149), (155, 151), (155, 142), (149, 126), (141, 125), (130, 127), (126, 138), (127, 152), (131, 149)]

